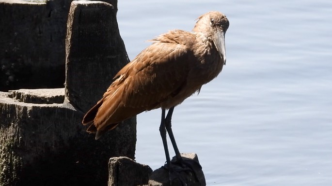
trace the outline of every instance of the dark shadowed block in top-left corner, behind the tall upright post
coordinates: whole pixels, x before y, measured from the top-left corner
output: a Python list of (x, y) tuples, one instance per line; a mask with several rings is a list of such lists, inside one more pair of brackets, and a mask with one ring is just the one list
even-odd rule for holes
[(63, 87), (71, 1), (0, 0), (0, 91)]

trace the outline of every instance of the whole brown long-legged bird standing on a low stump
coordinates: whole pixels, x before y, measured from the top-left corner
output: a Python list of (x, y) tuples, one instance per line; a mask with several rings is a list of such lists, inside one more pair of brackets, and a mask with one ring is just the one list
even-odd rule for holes
[(90, 125), (87, 131), (95, 133), (97, 140), (127, 118), (161, 108), (159, 130), (167, 165), (171, 162), (166, 130), (177, 161), (183, 161), (171, 128), (174, 107), (221, 72), (228, 26), (224, 14), (208, 12), (198, 18), (193, 32), (175, 29), (151, 40), (150, 46), (115, 75), (103, 98), (85, 114), (82, 123)]

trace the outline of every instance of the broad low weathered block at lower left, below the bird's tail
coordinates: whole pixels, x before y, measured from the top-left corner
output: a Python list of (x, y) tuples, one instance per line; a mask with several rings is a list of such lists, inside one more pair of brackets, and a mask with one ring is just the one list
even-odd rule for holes
[(33, 104), (1, 97), (0, 117), (4, 186), (102, 186), (109, 157), (134, 158), (134, 118), (95, 141), (81, 126), (83, 113), (67, 102)]

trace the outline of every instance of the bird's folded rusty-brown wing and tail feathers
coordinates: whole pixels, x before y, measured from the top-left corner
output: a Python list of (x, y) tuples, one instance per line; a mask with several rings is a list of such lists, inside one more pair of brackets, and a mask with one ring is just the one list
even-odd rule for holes
[(92, 123), (88, 131), (96, 132), (97, 139), (119, 122), (174, 97), (187, 82), (194, 58), (188, 50), (192, 37), (190, 32), (173, 30), (154, 39), (117, 73), (103, 98), (84, 116), (83, 124)]

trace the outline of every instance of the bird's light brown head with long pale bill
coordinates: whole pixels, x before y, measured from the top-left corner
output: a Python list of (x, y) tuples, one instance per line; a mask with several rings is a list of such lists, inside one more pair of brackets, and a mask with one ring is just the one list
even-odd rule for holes
[(215, 44), (224, 64), (226, 64), (225, 33), (229, 27), (227, 17), (220, 13), (211, 11), (197, 18), (194, 32), (203, 32)]

